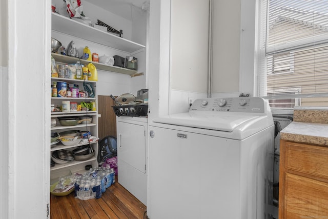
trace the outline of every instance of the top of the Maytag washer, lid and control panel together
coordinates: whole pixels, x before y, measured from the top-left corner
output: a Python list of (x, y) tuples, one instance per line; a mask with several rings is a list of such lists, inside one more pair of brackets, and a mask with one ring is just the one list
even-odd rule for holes
[(155, 118), (152, 122), (230, 132), (240, 139), (272, 126), (273, 118), (269, 104), (262, 98), (232, 97), (196, 99), (189, 112)]

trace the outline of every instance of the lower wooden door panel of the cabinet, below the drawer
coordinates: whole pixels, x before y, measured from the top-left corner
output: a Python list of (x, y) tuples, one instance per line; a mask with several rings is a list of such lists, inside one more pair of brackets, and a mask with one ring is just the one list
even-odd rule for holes
[(327, 183), (290, 173), (285, 174), (285, 179), (285, 214), (283, 218), (327, 217)]

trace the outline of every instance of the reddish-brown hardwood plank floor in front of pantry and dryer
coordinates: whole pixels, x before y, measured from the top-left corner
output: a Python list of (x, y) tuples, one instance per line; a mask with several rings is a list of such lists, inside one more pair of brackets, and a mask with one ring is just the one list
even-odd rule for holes
[(145, 212), (146, 206), (117, 182), (98, 199), (79, 200), (74, 192), (67, 196), (50, 195), (50, 219), (143, 219), (147, 218)]

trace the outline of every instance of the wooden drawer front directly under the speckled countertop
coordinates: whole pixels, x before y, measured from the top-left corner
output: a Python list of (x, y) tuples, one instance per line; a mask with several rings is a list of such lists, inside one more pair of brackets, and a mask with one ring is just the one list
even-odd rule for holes
[(328, 179), (328, 148), (286, 142), (285, 168)]

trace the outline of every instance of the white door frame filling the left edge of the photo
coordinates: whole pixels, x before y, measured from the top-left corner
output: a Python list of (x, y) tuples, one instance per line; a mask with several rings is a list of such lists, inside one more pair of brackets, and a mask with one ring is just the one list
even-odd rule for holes
[[(1, 187), (5, 191), (1, 195), (1, 218), (47, 218), (50, 74), (46, 72), (50, 72), (51, 4), (17, 0), (1, 3), (1, 11), (8, 12), (2, 13), (8, 21), (2, 32), (8, 33), (8, 38), (1, 40), (2, 45), (8, 45), (8, 71), (2, 67), (0, 72), (5, 108), (0, 130), (4, 148)], [(33, 12), (33, 16), (25, 16), (27, 12)]]

